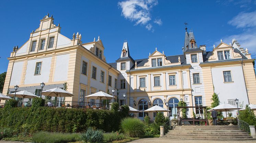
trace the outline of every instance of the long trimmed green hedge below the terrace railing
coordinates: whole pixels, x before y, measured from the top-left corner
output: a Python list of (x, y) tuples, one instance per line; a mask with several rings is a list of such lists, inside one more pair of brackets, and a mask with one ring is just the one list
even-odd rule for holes
[(83, 132), (88, 127), (106, 132), (117, 131), (128, 113), (109, 110), (68, 108), (8, 108), (0, 109), (0, 128), (18, 132)]

